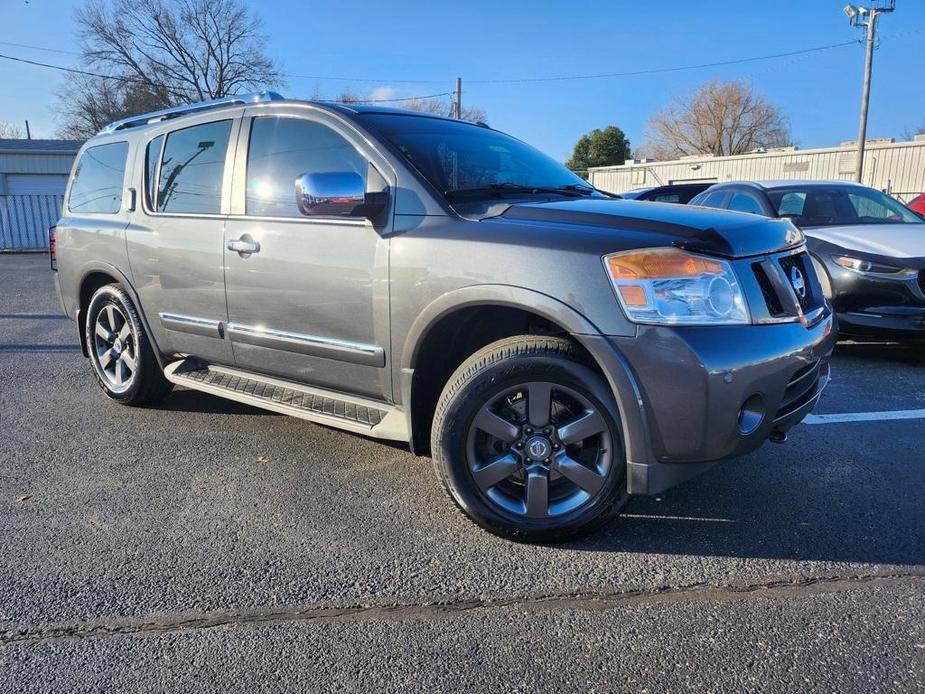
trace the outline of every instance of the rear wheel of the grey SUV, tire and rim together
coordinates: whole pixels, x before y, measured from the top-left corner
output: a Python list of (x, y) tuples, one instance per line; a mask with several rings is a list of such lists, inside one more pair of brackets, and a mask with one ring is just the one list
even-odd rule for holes
[(146, 405), (173, 388), (164, 377), (131, 298), (118, 284), (96, 290), (87, 306), (84, 341), (102, 391), (123, 405)]

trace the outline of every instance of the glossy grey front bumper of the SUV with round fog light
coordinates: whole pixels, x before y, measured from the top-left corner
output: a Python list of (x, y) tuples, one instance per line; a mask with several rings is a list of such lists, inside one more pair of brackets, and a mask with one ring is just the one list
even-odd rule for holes
[(835, 329), (826, 311), (808, 328), (640, 326), (636, 337), (603, 339), (640, 408), (638, 420), (623, 418), (629, 491), (655, 494), (802, 421), (828, 383)]

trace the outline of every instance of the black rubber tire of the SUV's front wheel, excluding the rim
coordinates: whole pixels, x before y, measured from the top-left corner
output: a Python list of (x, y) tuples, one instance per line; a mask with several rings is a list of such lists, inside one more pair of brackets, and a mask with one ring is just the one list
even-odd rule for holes
[[(506, 389), (531, 380), (558, 383), (588, 398), (607, 422), (613, 446), (610, 473), (598, 495), (570, 513), (549, 519), (526, 518), (498, 509), (482, 496), (469, 469), (468, 432), (479, 409)], [(587, 366), (554, 354), (507, 357), (478, 370), (449, 397), (440, 430), (435, 431), (434, 462), (453, 500), (482, 527), (511, 539), (556, 541), (596, 528), (622, 505), (626, 458), (619, 422), (609, 386)]]

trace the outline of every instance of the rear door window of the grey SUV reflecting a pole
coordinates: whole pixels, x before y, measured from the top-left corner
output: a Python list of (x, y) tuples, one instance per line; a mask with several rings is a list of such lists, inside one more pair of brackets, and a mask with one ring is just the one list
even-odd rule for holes
[(195, 125), (167, 135), (158, 179), (158, 212), (218, 214), (231, 121)]

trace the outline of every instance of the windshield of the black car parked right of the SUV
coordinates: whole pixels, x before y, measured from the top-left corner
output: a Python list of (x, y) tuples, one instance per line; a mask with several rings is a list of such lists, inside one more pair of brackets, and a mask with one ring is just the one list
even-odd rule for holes
[(780, 217), (798, 227), (850, 224), (922, 224), (922, 219), (885, 193), (857, 186), (804, 186), (768, 191)]

